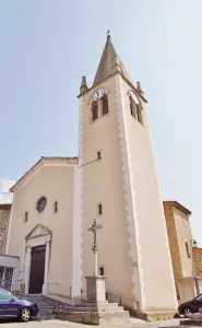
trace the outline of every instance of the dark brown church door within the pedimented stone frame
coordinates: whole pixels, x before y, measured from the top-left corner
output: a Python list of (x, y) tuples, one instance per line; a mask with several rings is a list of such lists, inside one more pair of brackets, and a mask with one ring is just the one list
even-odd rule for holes
[(28, 294), (41, 294), (45, 276), (46, 245), (32, 247)]

